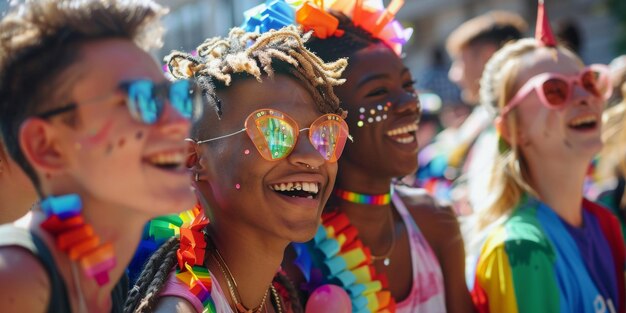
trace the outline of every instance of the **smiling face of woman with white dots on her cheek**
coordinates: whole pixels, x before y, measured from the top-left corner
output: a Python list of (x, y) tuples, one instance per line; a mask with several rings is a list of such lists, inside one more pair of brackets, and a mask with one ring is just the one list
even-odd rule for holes
[[(343, 78), (346, 83), (335, 92), (348, 110), (354, 143), (346, 145), (340, 169), (350, 164), (385, 178), (415, 171), (420, 108), (413, 78), (402, 59), (384, 44), (374, 44), (350, 56)], [(360, 111), (385, 110), (387, 103), (385, 119), (359, 124), (363, 122)]]

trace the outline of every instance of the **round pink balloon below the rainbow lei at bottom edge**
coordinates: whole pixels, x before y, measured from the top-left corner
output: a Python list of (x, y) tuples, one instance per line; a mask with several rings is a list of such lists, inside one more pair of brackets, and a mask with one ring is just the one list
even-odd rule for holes
[(321, 285), (313, 290), (306, 303), (305, 313), (350, 313), (352, 302), (343, 288), (336, 285)]

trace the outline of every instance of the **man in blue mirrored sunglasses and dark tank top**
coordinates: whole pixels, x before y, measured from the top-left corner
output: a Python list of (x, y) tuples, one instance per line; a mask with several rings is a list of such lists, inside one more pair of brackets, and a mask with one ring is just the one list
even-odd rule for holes
[(0, 21), (2, 138), (40, 198), (0, 226), (3, 312), (121, 312), (142, 225), (193, 205), (184, 139), (200, 93), (147, 52), (163, 13), (31, 0)]

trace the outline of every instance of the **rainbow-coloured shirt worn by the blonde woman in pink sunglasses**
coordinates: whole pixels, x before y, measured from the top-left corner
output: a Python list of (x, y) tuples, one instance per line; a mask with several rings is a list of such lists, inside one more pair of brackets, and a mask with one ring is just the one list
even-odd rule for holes
[(619, 223), (593, 202), (582, 207), (574, 228), (540, 201), (521, 201), (483, 245), (472, 291), (480, 312), (624, 312)]

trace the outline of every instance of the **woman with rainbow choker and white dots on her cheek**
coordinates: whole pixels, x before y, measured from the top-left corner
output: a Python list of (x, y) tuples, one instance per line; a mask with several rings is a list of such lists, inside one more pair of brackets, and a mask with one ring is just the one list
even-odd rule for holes
[(314, 30), (311, 51), (350, 60), (335, 90), (354, 143), (339, 161), (323, 225), (312, 241), (293, 245), (298, 270), (288, 272), (313, 312), (346, 310), (333, 300), (346, 293), (352, 312), (471, 312), (456, 216), (396, 181), (417, 168), (421, 107), (400, 56), (411, 30), (393, 19), (402, 1), (386, 9), (375, 2), (294, 8), (296, 22)]

